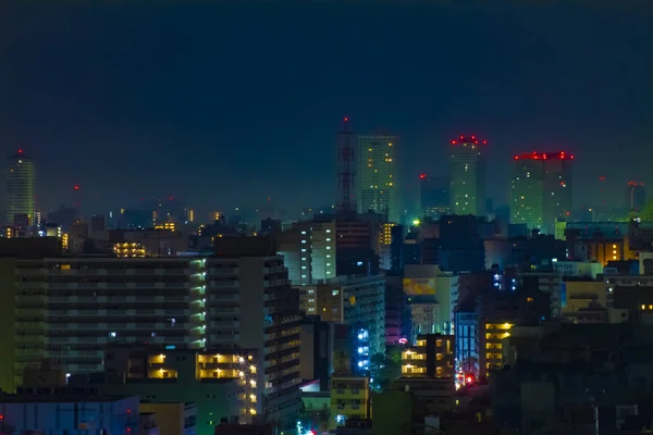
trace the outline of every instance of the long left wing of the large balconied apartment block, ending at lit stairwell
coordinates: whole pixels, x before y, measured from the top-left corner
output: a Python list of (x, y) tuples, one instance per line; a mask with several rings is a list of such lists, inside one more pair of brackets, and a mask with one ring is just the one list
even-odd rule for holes
[(20, 386), (24, 368), (44, 359), (69, 373), (102, 371), (110, 343), (202, 347), (204, 262), (0, 259), (2, 387)]

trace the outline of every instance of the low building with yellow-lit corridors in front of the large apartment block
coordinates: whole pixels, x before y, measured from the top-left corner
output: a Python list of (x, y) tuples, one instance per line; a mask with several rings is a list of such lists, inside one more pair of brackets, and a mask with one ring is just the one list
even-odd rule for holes
[(256, 364), (256, 350), (170, 348), (109, 346), (100, 391), (135, 395), (150, 403), (194, 402), (198, 435), (212, 435), (223, 418), (251, 423), (266, 412), (264, 373)]

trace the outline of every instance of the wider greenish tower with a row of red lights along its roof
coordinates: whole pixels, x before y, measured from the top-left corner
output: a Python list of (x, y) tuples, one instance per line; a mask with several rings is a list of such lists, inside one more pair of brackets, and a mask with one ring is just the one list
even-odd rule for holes
[(510, 186), (510, 223), (554, 234), (571, 212), (574, 156), (564, 151), (516, 156)]

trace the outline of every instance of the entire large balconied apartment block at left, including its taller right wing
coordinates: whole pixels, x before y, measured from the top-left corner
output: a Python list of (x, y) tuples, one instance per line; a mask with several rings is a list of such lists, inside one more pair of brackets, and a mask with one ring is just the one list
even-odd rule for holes
[[(227, 240), (223, 238), (221, 240)], [(212, 258), (0, 259), (0, 386), (50, 359), (67, 373), (103, 370), (107, 345), (258, 349), (266, 418), (300, 403), (298, 294), (266, 238), (233, 238)], [(294, 421), (293, 421), (294, 424)]]

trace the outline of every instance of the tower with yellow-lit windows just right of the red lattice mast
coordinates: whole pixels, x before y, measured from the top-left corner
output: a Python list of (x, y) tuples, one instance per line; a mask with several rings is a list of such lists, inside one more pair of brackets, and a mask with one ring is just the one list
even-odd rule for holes
[(383, 214), (389, 222), (399, 222), (396, 163), (397, 137), (358, 136), (358, 210)]

